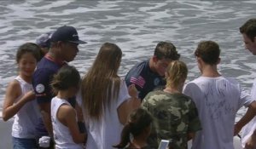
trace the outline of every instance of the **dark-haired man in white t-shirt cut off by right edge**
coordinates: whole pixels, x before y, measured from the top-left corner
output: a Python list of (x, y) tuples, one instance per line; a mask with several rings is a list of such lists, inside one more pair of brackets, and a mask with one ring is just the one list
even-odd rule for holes
[[(256, 55), (256, 18), (247, 20), (241, 27), (240, 32), (245, 43), (245, 48)], [(253, 81), (251, 96), (256, 99), (256, 79)], [(241, 143), (247, 149), (256, 148), (256, 117), (242, 129)]]

